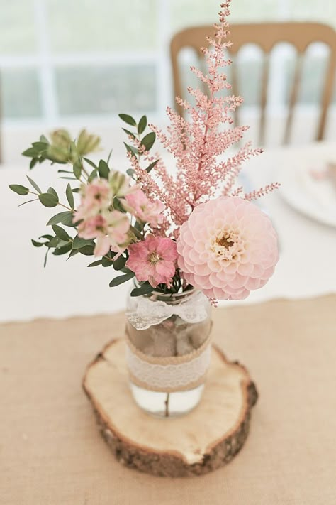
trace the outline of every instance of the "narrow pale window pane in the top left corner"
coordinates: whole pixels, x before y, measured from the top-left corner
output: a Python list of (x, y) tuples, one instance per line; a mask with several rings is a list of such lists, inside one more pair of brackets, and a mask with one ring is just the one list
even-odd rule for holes
[(35, 29), (32, 0), (1, 1), (0, 55), (35, 51)]

